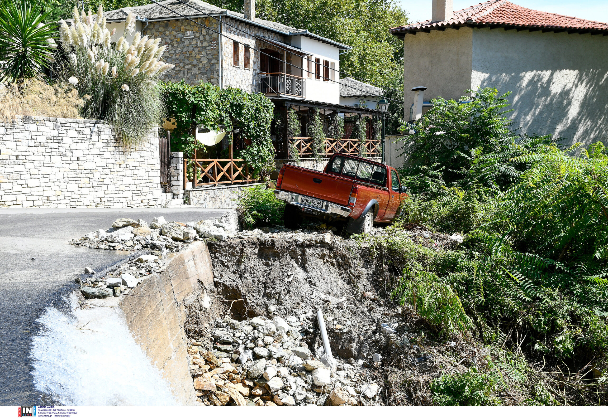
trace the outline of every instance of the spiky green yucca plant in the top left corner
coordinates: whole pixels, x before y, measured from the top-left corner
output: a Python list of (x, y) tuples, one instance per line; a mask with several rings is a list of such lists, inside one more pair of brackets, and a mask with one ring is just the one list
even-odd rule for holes
[(26, 2), (0, 5), (0, 60), (2, 83), (19, 83), (40, 75), (52, 61), (55, 30), (44, 23), (50, 12)]

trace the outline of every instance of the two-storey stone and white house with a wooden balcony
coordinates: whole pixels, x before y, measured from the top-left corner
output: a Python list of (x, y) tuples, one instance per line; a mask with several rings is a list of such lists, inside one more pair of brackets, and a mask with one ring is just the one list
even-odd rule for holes
[[(108, 29), (116, 28), (112, 41), (123, 36), (129, 12), (137, 16), (136, 30), (142, 35), (161, 38), (161, 44), (167, 45), (163, 60), (176, 66), (165, 73), (165, 80), (183, 78), (188, 83), (263, 92), (274, 102), (278, 119), (285, 120), (293, 108), (304, 130), (314, 108), (323, 116), (359, 111), (354, 106), (340, 107), (340, 53), (350, 46), (256, 18), (255, 0), (245, 0), (244, 10), (244, 14), (232, 12), (199, 0), (165, 0), (104, 16)], [(286, 125), (273, 124), (278, 158), (284, 158), (288, 148)]]

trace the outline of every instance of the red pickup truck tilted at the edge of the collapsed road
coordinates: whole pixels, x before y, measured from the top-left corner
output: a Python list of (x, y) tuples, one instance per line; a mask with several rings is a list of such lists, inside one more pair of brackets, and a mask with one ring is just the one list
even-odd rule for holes
[(406, 197), (397, 170), (389, 165), (336, 153), (322, 172), (283, 164), (275, 197), (285, 200), (286, 228), (297, 229), (302, 217), (347, 221), (347, 234), (370, 232), (389, 223)]

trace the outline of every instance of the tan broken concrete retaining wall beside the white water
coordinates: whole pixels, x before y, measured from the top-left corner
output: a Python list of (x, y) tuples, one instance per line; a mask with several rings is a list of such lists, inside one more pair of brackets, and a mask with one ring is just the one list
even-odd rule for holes
[(123, 296), (119, 302), (135, 341), (161, 370), (182, 405), (196, 403), (186, 355), (186, 306), (201, 296), (201, 285), (211, 284), (207, 244), (195, 242), (176, 254), (161, 274), (144, 280), (136, 288), (140, 296)]

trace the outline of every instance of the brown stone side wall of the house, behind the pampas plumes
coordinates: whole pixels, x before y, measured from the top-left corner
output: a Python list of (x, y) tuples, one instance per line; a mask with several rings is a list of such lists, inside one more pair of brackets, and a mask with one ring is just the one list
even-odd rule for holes
[[(198, 18), (198, 22), (219, 32), (216, 19)], [(142, 32), (142, 35), (161, 38), (161, 45), (167, 45), (162, 58), (167, 63), (174, 64), (175, 68), (162, 76), (164, 80), (179, 82), (184, 78), (189, 84), (201, 80), (219, 83), (217, 33), (187, 19), (153, 22)]]

